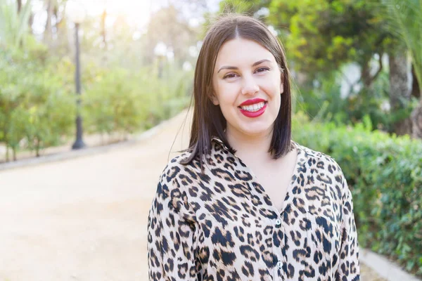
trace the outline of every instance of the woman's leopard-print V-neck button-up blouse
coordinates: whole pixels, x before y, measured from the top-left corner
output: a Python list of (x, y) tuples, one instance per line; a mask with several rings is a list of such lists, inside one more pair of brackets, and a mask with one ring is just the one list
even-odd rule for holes
[(205, 173), (188, 155), (165, 167), (148, 214), (150, 280), (359, 280), (352, 195), (328, 155), (298, 158), (283, 209), (212, 139)]

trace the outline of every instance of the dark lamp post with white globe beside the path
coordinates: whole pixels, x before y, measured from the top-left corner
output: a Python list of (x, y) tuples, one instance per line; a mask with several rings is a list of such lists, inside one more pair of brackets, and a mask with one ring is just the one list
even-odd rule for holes
[(72, 149), (77, 150), (85, 147), (85, 143), (82, 140), (82, 117), (80, 115), (81, 109), (81, 79), (80, 79), (80, 62), (79, 62), (79, 25), (84, 21), (87, 12), (82, 6), (82, 1), (69, 0), (66, 4), (66, 13), (70, 21), (75, 23), (75, 84), (77, 93), (77, 117), (76, 117), (76, 141), (72, 145)]

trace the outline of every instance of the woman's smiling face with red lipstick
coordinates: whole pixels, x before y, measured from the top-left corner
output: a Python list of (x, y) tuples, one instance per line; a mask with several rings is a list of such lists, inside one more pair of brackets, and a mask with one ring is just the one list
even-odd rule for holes
[(248, 39), (226, 41), (217, 54), (212, 86), (212, 103), (222, 110), (226, 133), (269, 136), (279, 115), (283, 84), (267, 48)]

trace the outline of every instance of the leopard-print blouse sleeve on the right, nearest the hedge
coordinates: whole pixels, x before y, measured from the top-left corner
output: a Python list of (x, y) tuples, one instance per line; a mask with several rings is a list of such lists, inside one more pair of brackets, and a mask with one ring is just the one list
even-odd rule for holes
[(354, 223), (352, 192), (347, 187), (343, 176), (343, 220), (341, 222), (341, 247), (339, 253), (339, 266), (335, 280), (357, 281), (360, 280), (359, 270), (359, 244), (357, 229)]

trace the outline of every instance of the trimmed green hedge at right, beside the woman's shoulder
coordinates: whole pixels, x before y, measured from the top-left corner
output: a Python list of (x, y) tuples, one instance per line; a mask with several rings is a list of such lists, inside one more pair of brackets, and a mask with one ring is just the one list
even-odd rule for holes
[(422, 141), (355, 127), (309, 122), (298, 113), (293, 139), (340, 164), (352, 191), (361, 247), (422, 276)]

